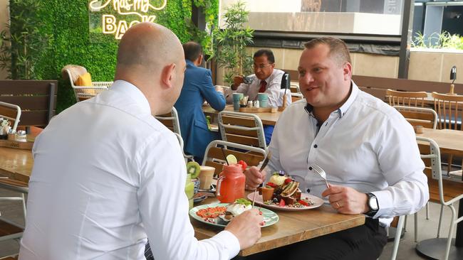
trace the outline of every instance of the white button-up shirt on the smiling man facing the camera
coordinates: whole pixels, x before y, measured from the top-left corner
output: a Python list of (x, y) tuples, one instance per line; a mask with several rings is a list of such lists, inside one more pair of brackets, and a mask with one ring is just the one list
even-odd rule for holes
[[(391, 217), (420, 210), (429, 193), (424, 163), (412, 126), (397, 112), (355, 83), (348, 100), (318, 129), (305, 99), (287, 107), (276, 123), (266, 171), (284, 170), (301, 190), (321, 197), (326, 184), (309, 170), (316, 163), (328, 183), (371, 192), (378, 197), (383, 226)], [(318, 133), (317, 133), (318, 132)]]

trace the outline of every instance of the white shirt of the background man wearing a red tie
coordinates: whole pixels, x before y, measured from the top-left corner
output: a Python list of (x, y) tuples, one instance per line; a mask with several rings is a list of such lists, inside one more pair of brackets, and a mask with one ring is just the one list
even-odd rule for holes
[[(264, 80), (267, 82), (265, 93), (269, 94), (269, 107), (281, 107), (283, 105), (280, 92), (281, 77), (283, 77), (283, 74), (283, 70), (274, 69), (274, 72)], [(231, 93), (243, 93), (245, 96), (249, 96), (249, 100), (257, 100), (257, 94), (261, 88), (261, 80), (259, 80), (255, 74), (249, 77), (251, 77), (252, 80), (250, 84), (241, 83), (235, 91), (231, 91), (231, 89), (227, 90), (228, 103), (233, 103), (233, 95)], [(291, 95), (286, 102), (291, 103)]]

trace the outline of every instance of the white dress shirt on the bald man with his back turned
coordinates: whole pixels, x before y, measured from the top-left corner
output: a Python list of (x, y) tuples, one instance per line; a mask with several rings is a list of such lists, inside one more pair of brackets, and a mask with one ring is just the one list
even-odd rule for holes
[(134, 85), (54, 117), (33, 146), (19, 259), (230, 259), (239, 241), (222, 231), (197, 241), (175, 135)]

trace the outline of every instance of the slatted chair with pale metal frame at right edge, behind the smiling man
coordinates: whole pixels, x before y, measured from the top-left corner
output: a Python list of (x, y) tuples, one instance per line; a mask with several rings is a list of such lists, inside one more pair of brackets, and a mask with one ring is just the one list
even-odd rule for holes
[[(462, 203), (463, 192), (461, 190), (461, 183), (457, 183), (454, 180), (450, 180), (442, 175), (442, 169), (440, 167), (440, 150), (437, 143), (425, 137), (417, 136), (418, 147), (420, 148), (421, 158), (425, 163), (425, 174), (427, 175), (427, 183), (430, 188), (430, 201), (437, 202), (442, 207), (447, 206), (452, 212), (452, 220), (450, 221), (449, 235), (447, 237), (447, 244), (445, 246), (444, 255), (439, 256), (439, 259), (447, 260), (449, 257), (450, 246), (452, 244), (452, 234), (455, 230), (455, 226), (463, 220), (463, 217), (458, 218), (457, 210), (454, 207), (455, 202)], [(444, 190), (445, 185), (445, 190)], [(459, 194), (456, 197), (449, 194)], [(442, 210), (439, 218), (439, 229), (440, 222), (442, 220)], [(439, 234), (439, 230), (437, 231)], [(420, 251), (421, 247), (426, 247), (426, 244), (437, 244), (435, 239), (426, 239), (417, 244), (417, 251)]]

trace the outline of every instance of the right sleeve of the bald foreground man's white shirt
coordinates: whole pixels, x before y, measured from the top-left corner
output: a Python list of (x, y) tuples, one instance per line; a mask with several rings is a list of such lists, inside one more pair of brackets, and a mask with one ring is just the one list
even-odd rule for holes
[(238, 254), (239, 241), (231, 232), (202, 241), (194, 237), (184, 192), (187, 172), (173, 134), (147, 140), (136, 161), (140, 217), (155, 259), (231, 259)]

